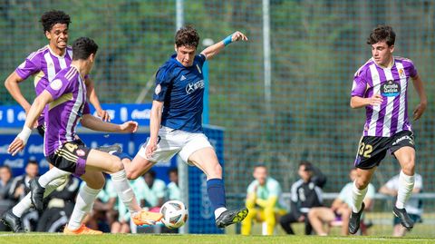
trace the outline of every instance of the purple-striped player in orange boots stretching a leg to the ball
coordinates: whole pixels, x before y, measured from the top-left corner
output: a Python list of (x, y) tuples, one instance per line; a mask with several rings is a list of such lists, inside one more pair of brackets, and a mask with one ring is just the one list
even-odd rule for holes
[(22, 151), (30, 136), (30, 129), (38, 116), (45, 112), (44, 154), (48, 161), (63, 171), (69, 171), (86, 182), (79, 191), (73, 214), (64, 229), (65, 234), (102, 234), (89, 229), (82, 220), (92, 209), (93, 201), (104, 185), (102, 172), (109, 173), (121, 201), (131, 212), (136, 224), (153, 224), (161, 219), (160, 213), (140, 209), (120, 158), (104, 151), (87, 148), (76, 137), (78, 122), (83, 127), (101, 132), (136, 132), (137, 122), (113, 124), (90, 114), (86, 102), (84, 77), (90, 73), (98, 45), (92, 39), (81, 37), (73, 43), (73, 62), (53, 77), (53, 81), (40, 93), (29, 110), (23, 131), (9, 145), (13, 155)]

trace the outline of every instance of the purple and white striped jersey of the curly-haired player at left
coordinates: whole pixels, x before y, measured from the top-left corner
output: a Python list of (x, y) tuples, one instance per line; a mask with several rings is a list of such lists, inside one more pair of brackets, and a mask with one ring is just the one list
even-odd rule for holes
[[(54, 75), (62, 69), (69, 67), (73, 60), (73, 49), (67, 46), (63, 56), (54, 54), (49, 45), (27, 56), (25, 61), (16, 69), (15, 73), (22, 79), (34, 76), (34, 91), (36, 95), (43, 92), (45, 87), (53, 80)], [(43, 124), (43, 116), (39, 117), (38, 124)]]

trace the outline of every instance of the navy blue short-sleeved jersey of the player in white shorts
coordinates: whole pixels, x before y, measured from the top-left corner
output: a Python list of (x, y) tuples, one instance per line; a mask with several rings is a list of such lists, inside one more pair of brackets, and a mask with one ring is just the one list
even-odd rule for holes
[(185, 132), (202, 132), (204, 76), (206, 56), (195, 56), (193, 65), (185, 67), (176, 54), (156, 73), (153, 99), (163, 103), (161, 125)]

